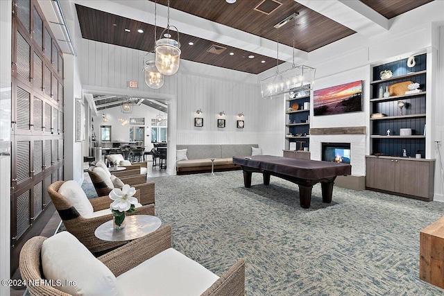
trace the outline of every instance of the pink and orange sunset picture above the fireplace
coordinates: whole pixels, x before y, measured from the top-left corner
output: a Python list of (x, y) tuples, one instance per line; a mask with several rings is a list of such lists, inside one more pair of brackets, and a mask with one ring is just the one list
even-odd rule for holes
[(314, 91), (314, 115), (332, 115), (362, 110), (362, 80)]

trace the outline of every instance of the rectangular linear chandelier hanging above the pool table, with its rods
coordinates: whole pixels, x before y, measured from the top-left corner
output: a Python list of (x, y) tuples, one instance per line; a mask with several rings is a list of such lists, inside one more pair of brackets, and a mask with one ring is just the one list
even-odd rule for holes
[[(262, 98), (270, 98), (279, 96), (289, 92), (302, 92), (312, 89), (314, 83), (314, 75), (316, 69), (305, 65), (296, 66), (294, 63), (294, 46), (296, 41), (296, 17), (298, 12), (293, 13), (275, 28), (278, 28), (277, 57), (276, 57), (276, 73), (261, 81)], [(279, 28), (293, 19), (293, 63), (290, 69), (279, 71)]]

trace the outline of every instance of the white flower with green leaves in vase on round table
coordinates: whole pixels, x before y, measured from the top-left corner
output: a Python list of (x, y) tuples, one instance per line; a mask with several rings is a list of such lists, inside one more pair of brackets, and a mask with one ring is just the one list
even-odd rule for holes
[(120, 226), (125, 220), (125, 213), (133, 213), (135, 204), (138, 200), (135, 195), (136, 189), (128, 184), (123, 185), (122, 189), (114, 188), (110, 192), (110, 198), (114, 200), (110, 204), (110, 209), (117, 226)]

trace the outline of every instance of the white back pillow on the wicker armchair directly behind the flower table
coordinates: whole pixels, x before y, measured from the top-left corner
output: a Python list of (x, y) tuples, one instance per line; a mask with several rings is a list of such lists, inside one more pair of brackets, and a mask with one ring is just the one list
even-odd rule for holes
[(58, 193), (65, 196), (69, 202), (76, 208), (78, 214), (82, 215), (84, 218), (89, 218), (92, 216), (94, 209), (92, 208), (91, 202), (89, 202), (85, 192), (82, 187), (74, 181), (70, 180), (62, 184)]

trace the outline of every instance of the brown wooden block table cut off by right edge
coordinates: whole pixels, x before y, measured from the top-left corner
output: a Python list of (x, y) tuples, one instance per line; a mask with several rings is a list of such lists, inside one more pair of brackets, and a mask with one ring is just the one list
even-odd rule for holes
[(419, 250), (420, 279), (444, 288), (444, 216), (421, 230)]

